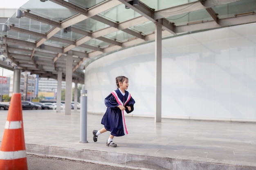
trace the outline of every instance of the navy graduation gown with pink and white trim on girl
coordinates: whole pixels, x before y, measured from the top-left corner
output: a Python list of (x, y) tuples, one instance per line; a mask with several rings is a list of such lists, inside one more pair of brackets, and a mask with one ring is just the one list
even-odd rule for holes
[(102, 117), (101, 124), (104, 125), (106, 130), (111, 132), (111, 135), (124, 136), (128, 134), (124, 111), (120, 110), (117, 106), (130, 106), (132, 110), (128, 111), (127, 109), (127, 112), (130, 113), (133, 111), (133, 104), (135, 104), (135, 100), (131, 97), (130, 93), (125, 91), (125, 95), (123, 96), (119, 89), (112, 91), (105, 98), (107, 110)]

